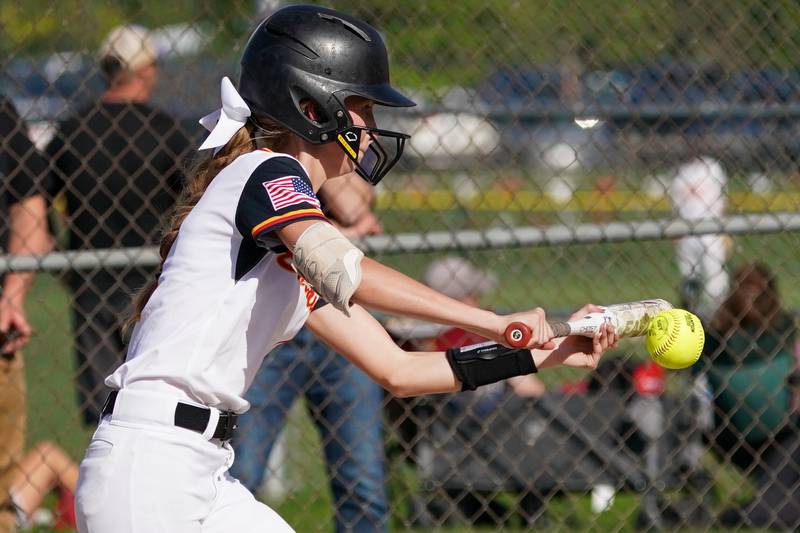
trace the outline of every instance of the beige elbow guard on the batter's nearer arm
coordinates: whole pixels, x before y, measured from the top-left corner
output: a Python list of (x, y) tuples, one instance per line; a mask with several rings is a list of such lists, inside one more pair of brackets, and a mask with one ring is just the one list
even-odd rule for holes
[(292, 263), (326, 301), (350, 316), (350, 298), (361, 283), (364, 253), (325, 222), (317, 222), (300, 235)]

